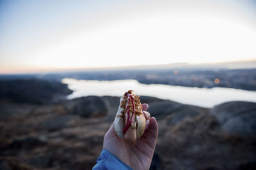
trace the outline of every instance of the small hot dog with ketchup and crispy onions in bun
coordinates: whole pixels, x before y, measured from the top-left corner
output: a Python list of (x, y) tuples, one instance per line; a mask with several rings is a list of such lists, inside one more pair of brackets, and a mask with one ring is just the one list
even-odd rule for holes
[(115, 117), (115, 131), (119, 138), (124, 138), (134, 145), (136, 139), (145, 131), (146, 119), (142, 113), (140, 96), (129, 90), (120, 98), (120, 105)]

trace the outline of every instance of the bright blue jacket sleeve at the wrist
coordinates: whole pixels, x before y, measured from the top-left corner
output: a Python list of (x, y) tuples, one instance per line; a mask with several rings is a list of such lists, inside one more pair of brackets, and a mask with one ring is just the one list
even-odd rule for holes
[(131, 167), (127, 166), (122, 160), (118, 159), (112, 153), (108, 152), (108, 150), (102, 150), (99, 158), (97, 159), (97, 164), (93, 167), (93, 170), (121, 170), (128, 169), (132, 170)]

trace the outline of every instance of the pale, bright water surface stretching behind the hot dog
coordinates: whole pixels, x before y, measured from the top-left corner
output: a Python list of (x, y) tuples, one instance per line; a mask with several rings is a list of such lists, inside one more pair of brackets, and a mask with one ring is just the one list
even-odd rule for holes
[(125, 91), (134, 90), (140, 96), (153, 96), (206, 108), (228, 101), (256, 102), (256, 92), (221, 87), (206, 89), (159, 84), (146, 85), (136, 80), (99, 81), (64, 78), (62, 82), (68, 84), (69, 89), (74, 90), (68, 99), (90, 95), (122, 96)]

